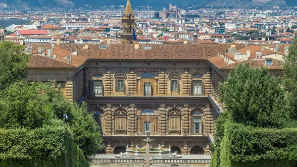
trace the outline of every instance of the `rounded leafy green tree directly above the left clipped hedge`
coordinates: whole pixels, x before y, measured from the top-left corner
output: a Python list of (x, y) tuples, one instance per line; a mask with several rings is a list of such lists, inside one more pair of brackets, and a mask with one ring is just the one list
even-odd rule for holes
[(41, 85), (19, 81), (0, 92), (0, 128), (39, 128), (53, 116)]

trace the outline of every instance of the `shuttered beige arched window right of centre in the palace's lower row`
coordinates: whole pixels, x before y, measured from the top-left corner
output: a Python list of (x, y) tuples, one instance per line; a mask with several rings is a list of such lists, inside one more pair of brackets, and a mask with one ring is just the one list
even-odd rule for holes
[(168, 134), (180, 135), (181, 134), (181, 112), (173, 110), (168, 113)]

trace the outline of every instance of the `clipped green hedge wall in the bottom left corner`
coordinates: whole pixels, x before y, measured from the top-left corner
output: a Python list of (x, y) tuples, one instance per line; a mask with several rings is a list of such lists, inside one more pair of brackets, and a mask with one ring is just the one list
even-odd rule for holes
[(0, 167), (64, 167), (65, 148), (66, 167), (88, 167), (71, 135), (63, 125), (0, 129)]

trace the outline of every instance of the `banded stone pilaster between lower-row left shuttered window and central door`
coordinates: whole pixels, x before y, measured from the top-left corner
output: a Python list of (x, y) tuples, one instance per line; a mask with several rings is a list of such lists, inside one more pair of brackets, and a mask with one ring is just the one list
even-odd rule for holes
[(136, 118), (136, 109), (135, 109), (135, 105), (131, 104), (130, 105), (130, 109), (128, 109), (128, 117), (127, 117), (127, 121), (128, 121), (128, 135), (130, 136), (134, 136), (136, 135), (135, 132), (137, 131), (137, 118)]

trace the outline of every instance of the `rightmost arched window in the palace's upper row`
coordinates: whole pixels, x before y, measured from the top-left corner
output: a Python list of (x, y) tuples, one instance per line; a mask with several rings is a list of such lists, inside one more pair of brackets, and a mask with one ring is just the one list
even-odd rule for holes
[(191, 95), (204, 96), (204, 78), (202, 75), (194, 74), (191, 80)]

